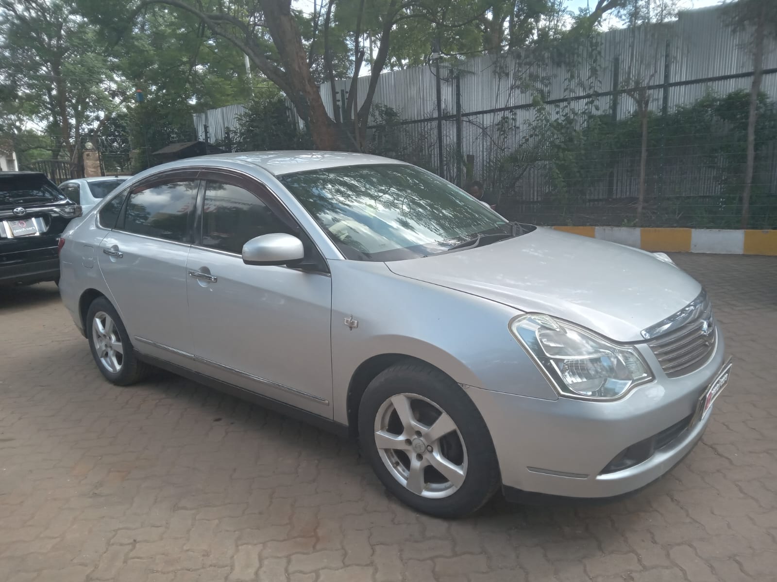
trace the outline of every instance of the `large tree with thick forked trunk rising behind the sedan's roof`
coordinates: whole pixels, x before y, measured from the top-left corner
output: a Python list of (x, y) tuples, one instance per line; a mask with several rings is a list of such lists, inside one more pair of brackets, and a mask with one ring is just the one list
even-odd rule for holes
[[(214, 36), (227, 40), (246, 54), (253, 65), (291, 99), (298, 115), (308, 123), (316, 147), (361, 149), (378, 78), (389, 60), (392, 34), (404, 21), (413, 19), (423, 20), (427, 25), (440, 29), (465, 26), (486, 7), (482, 2), (449, 5), (444, 0), (355, 0), (355, 5), (350, 4), (353, 1), (338, 4), (336, 11), (334, 3), (330, 2), (322, 23), (322, 61), (329, 80), (334, 78), (334, 58), (330, 50), (333, 20), (345, 23), (350, 19), (347, 30), (353, 35), (347, 42), (347, 46), (354, 50), (351, 91), (345, 108), (347, 119), (341, 120), (340, 127), (336, 126), (336, 120), (330, 119), (319, 95), (312, 72), (315, 57), (311, 47), (305, 47), (303, 43), (301, 32), (305, 26), (301, 26), (298, 13), (291, 9), (291, 0), (220, 0), (207, 7), (190, 0), (141, 0), (135, 14), (153, 5), (168, 5), (197, 16)], [(316, 21), (315, 26), (311, 26), (311, 38), (314, 29), (318, 34), (318, 20), (323, 12), (322, 8), (315, 10)], [(333, 12), (338, 12), (336, 19)], [(363, 43), (365, 34), (375, 41), (375, 56), (370, 54), (370, 81), (361, 106), (357, 108), (360, 100), (356, 91), (357, 78), (367, 56)], [(311, 40), (311, 44), (315, 50), (315, 39)], [(346, 137), (348, 135), (350, 138)]]

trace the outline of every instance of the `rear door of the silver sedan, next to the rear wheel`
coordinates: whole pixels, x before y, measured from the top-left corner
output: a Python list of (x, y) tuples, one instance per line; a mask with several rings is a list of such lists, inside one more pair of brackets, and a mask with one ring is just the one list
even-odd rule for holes
[[(100, 243), (98, 264), (134, 347), (176, 363), (191, 361), (186, 308), (197, 172), (141, 182)], [(103, 216), (101, 213), (101, 223)], [(104, 226), (104, 225), (103, 225)]]

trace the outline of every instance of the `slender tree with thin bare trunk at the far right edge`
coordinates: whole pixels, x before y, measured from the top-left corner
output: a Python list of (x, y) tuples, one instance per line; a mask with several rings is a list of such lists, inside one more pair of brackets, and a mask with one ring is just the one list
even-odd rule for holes
[(750, 85), (749, 109), (747, 114), (747, 161), (744, 166), (744, 189), (742, 190), (741, 228), (747, 228), (750, 220), (750, 197), (753, 189), (753, 168), (755, 166), (755, 126), (758, 120), (758, 93), (764, 77), (764, 57), (767, 40), (777, 37), (777, 5), (768, 0), (739, 0), (728, 5), (726, 18), (733, 29), (747, 30), (748, 44), (753, 55), (753, 81)]

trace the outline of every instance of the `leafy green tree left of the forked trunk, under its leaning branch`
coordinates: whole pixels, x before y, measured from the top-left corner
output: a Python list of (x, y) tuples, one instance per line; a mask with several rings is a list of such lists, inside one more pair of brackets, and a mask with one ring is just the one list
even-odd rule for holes
[[(136, 171), (153, 163), (150, 154), (160, 147), (198, 139), (193, 113), (247, 102), (252, 90), (267, 82), (252, 81), (243, 67), (242, 52), (214, 38), (188, 12), (158, 6), (133, 19), (134, 9), (106, 0), (78, 0), (78, 9), (98, 27), (114, 55), (117, 74), (129, 87), (129, 99), (122, 106), (123, 123), (106, 123), (99, 143), (113, 144), (107, 152), (113, 158), (120, 157), (117, 144), (127, 147), (127, 158), (130, 149), (137, 151), (133, 158)], [(141, 103), (131, 100), (135, 88), (143, 92)], [(126, 133), (112, 137), (108, 130)]]

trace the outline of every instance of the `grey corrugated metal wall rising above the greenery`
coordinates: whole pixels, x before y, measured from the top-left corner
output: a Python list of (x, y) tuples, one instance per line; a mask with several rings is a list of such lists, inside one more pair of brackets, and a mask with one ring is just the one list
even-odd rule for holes
[[(671, 50), (669, 81), (699, 81), (690, 85), (673, 86), (670, 92), (670, 107), (691, 103), (713, 90), (728, 93), (737, 88), (748, 88), (751, 78), (741, 77), (726, 80), (709, 78), (730, 76), (752, 71), (751, 57), (747, 50), (747, 33), (734, 32), (723, 22), (723, 9), (709, 8), (681, 12), (677, 21), (664, 25), (661, 32), (656, 29), (615, 29), (601, 35), (601, 57), (598, 59), (596, 86), (601, 92), (612, 88), (613, 63), (620, 59), (620, 78), (625, 81), (629, 71), (641, 69), (642, 74), (632, 75), (644, 78), (651, 85), (664, 82), (664, 50), (668, 41)], [(765, 68), (777, 68), (777, 41), (770, 40), (772, 50), (766, 51)], [(521, 56), (482, 55), (467, 59), (461, 65), (462, 111), (472, 113), (487, 109), (528, 106), (535, 97), (535, 88), (521, 88), (521, 81), (530, 77), (546, 79), (545, 99), (575, 98), (584, 95), (586, 88), (572, 86), (567, 80), (569, 71), (547, 62), (537, 62), (531, 52)], [(581, 58), (578, 78), (586, 76), (590, 63)], [(443, 68), (442, 102), (444, 115), (455, 113), (455, 88), (449, 79), (452, 75)], [(709, 79), (707, 81), (703, 81)], [(361, 77), (357, 83), (357, 103), (361, 106), (367, 94), (369, 77)], [(340, 91), (347, 90), (350, 80), (335, 81), (338, 102)], [(763, 90), (777, 98), (777, 75), (766, 75)], [(324, 105), (333, 116), (332, 94), (329, 82), (322, 84), (320, 93)], [(651, 92), (650, 106), (659, 110), (661, 90)], [(608, 108), (610, 96), (601, 96), (597, 105)], [(435, 78), (432, 66), (414, 67), (401, 71), (387, 71), (380, 76), (375, 91), (375, 104), (394, 109), (402, 120), (427, 120), (437, 116)], [(291, 105), (291, 103), (290, 103)], [(338, 105), (339, 106), (339, 105)], [(620, 99), (618, 117), (633, 113), (631, 99)], [(226, 127), (235, 130), (238, 116), (245, 106), (232, 105), (209, 109), (194, 115), (197, 135), (203, 136), (204, 125), (208, 126), (211, 140), (223, 139)], [(498, 120), (500, 114), (487, 114)], [(531, 114), (524, 115), (528, 119)], [(488, 123), (483, 119), (483, 124)]]

